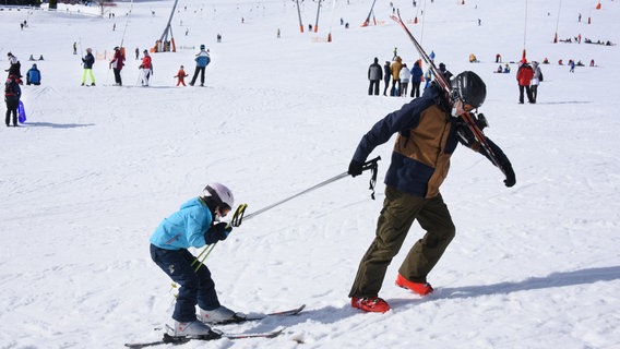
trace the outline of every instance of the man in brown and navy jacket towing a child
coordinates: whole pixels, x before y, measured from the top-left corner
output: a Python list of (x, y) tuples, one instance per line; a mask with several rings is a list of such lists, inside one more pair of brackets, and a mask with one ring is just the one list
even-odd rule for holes
[[(351, 305), (367, 312), (386, 312), (388, 302), (379, 298), (388, 265), (398, 253), (407, 232), (418, 220), (427, 232), (418, 240), (398, 269), (396, 285), (425, 296), (432, 292), (427, 275), (434, 267), (455, 234), (454, 224), (439, 192), (448, 176), (450, 157), (463, 143), (489, 157), (480, 147), (462, 116), (480, 107), (486, 98), (482, 80), (466, 71), (452, 81), (449, 96), (433, 83), (420, 98), (377, 122), (361, 139), (348, 173), (358, 176), (374, 147), (398, 133), (392, 163), (385, 174), (385, 201), (377, 224), (375, 238), (363, 255), (349, 292)], [(512, 166), (490, 140), (506, 186), (515, 184)]]

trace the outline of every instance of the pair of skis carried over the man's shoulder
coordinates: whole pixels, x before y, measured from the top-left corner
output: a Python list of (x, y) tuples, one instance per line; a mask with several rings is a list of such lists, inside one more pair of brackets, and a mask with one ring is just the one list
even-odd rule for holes
[[(398, 23), (403, 27), (403, 29), (405, 31), (405, 33), (407, 34), (407, 36), (409, 37), (409, 39), (412, 40), (412, 43), (416, 47), (416, 50), (418, 50), (418, 52), (422, 57), (422, 60), (425, 61), (425, 63), (427, 63), (430, 67), (430, 70), (431, 70), (432, 74), (434, 75), (434, 80), (438, 82), (438, 84), (441, 86), (441, 88), (443, 88), (443, 91), (450, 96), (450, 93), (452, 92), (452, 85), (450, 84), (448, 79), (445, 79), (445, 76), (443, 76), (443, 74), (439, 71), (439, 69), (434, 65), (433, 60), (430, 59), (430, 57), (426, 53), (426, 51), (424, 50), (421, 45), (418, 43), (418, 40), (414, 37), (414, 35), (412, 34), (409, 28), (407, 28), (407, 26), (405, 25), (405, 22), (403, 22), (403, 19), (401, 19), (401, 11), (396, 10), (396, 15), (392, 15), (391, 17), (392, 17), (392, 20), (394, 20), (394, 22)], [(467, 127), (469, 128), (472, 133), (474, 133), (476, 141), (478, 141), (478, 143), (480, 143), (481, 147), (485, 149), (485, 152), (487, 153), (487, 155), (489, 156), (489, 158), (491, 159), (493, 165), (497, 166), (502, 172), (504, 172), (504, 170), (503, 170), (503, 168), (500, 164), (500, 160), (498, 159), (497, 155), (493, 153), (493, 149), (489, 145), (489, 142), (487, 142), (487, 137), (485, 136), (485, 133), (476, 124), (476, 120), (474, 120), (474, 117), (472, 116), (472, 113), (465, 112), (463, 115), (463, 120), (465, 120), (465, 123), (467, 123)], [(505, 174), (505, 172), (504, 172), (504, 174)]]

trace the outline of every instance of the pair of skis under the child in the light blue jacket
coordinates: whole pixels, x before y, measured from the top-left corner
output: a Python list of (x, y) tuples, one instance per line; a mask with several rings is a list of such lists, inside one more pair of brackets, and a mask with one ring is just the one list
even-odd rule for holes
[[(293, 315), (299, 314), (305, 308), (306, 308), (306, 304), (302, 304), (302, 305), (295, 308), (295, 309), (289, 309), (289, 310), (285, 310), (285, 311), (277, 311), (277, 312), (273, 312), (273, 313), (269, 313), (269, 314), (262, 314), (262, 315), (246, 317), (246, 318), (237, 321), (235, 323), (240, 324), (240, 323), (246, 323), (246, 322), (251, 322), (251, 321), (261, 321), (261, 320), (267, 318), (267, 317), (293, 316)], [(140, 348), (146, 348), (146, 347), (153, 347), (153, 346), (159, 346), (159, 345), (166, 345), (166, 344), (181, 345), (181, 344), (186, 344), (186, 342), (191, 341), (191, 340), (216, 340), (216, 339), (220, 339), (220, 338), (228, 338), (228, 339), (275, 338), (275, 337), (279, 336), (281, 334), (283, 334), (284, 329), (285, 328), (279, 328), (279, 329), (272, 330), (272, 332), (246, 333), (246, 334), (231, 334), (231, 333), (225, 333), (225, 332), (215, 329), (215, 330), (212, 330), (212, 333), (210, 333), (208, 335), (204, 335), (204, 336), (200, 336), (200, 337), (171, 336), (171, 335), (168, 335), (168, 334), (164, 334), (164, 338), (162, 338), (160, 340), (146, 341), (146, 342), (131, 342), (131, 344), (128, 342), (124, 346), (127, 348), (140, 349)]]

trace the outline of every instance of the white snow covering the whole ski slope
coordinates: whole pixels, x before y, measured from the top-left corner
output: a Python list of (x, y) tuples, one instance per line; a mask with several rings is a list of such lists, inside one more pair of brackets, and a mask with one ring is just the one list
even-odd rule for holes
[[(417, 13), (409, 27), (438, 61), (486, 81), (486, 133), (517, 184), (505, 188), (487, 159), (458, 149), (442, 186), (457, 232), (429, 276), (436, 292), (420, 298), (393, 284), (424, 234), (414, 225), (380, 293), (393, 310), (362, 313), (347, 293), (374, 234), (390, 141), (370, 156), (383, 158), (377, 201), (367, 173), (347, 177), (243, 221), (208, 256), (219, 299), (236, 311), (308, 304), (299, 316), (222, 328), (285, 334), (183, 348), (619, 348), (620, 55), (618, 46), (552, 39), (557, 28), (561, 39), (620, 43), (620, 3), (438, 0), (426, 1), (422, 16), (410, 1), (392, 2), (408, 21)], [(162, 36), (172, 3), (117, 2), (106, 9), (114, 19), (64, 4), (0, 11), (0, 64), (12, 51), (25, 74), (29, 55), (45, 58), (36, 62), (43, 84), (23, 86), (27, 123), (0, 129), (2, 349), (158, 339), (153, 328), (170, 321), (175, 302), (148, 254), (164, 217), (212, 181), (230, 186), (250, 214), (333, 178), (361, 135), (409, 100), (367, 95), (374, 57), (384, 62), (397, 47), (408, 65), (418, 59), (388, 1), (375, 5), (378, 25), (359, 26), (367, 0), (324, 2), (318, 33), (307, 27), (315, 2), (302, 3), (299, 33), (291, 1), (181, 0), (172, 19), (179, 49), (153, 53), (152, 86), (136, 86), (134, 49)], [(107, 61), (121, 43), (126, 86), (116, 87)], [(200, 44), (213, 59), (206, 87), (176, 87), (179, 65), (193, 73)], [(86, 47), (98, 57), (95, 87), (80, 86)], [(517, 104), (516, 64), (492, 73), (496, 53), (517, 61), (524, 47), (530, 60), (551, 62), (536, 105)], [(468, 63), (469, 53), (481, 62)], [(597, 67), (569, 73), (559, 59)]]

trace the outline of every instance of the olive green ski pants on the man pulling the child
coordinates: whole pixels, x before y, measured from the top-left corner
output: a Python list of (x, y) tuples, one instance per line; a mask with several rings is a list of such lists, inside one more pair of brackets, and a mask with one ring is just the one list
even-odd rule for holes
[(379, 296), (388, 266), (416, 219), (426, 234), (409, 250), (398, 273), (413, 282), (427, 281), (427, 275), (455, 234), (450, 212), (441, 194), (425, 198), (386, 186), (374, 240), (359, 263), (349, 297)]

